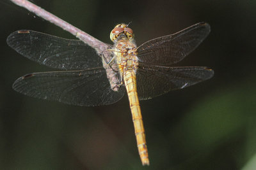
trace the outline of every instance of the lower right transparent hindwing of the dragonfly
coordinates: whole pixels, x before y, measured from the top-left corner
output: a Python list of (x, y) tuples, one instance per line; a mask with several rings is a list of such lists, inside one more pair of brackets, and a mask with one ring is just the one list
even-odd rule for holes
[(195, 85), (211, 78), (214, 74), (213, 70), (207, 67), (164, 67), (144, 64), (139, 66), (136, 73), (140, 100)]

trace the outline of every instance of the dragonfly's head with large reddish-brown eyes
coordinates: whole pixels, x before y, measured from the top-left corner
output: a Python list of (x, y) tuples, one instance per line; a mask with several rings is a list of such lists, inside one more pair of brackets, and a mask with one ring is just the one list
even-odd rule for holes
[(111, 41), (116, 39), (132, 39), (134, 38), (134, 33), (131, 28), (127, 27), (127, 24), (118, 24), (110, 32)]

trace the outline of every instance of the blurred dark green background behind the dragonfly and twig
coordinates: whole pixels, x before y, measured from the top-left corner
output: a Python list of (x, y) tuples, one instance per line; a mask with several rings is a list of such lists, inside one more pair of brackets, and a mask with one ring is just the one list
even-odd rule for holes
[(31, 29), (75, 39), (14, 4), (0, 3), (0, 169), (256, 169), (256, 1), (34, 0), (106, 43), (115, 24), (132, 22), (138, 45), (197, 22), (211, 34), (179, 66), (209, 66), (214, 77), (141, 101), (150, 166), (141, 166), (127, 95), (79, 107), (23, 96), (12, 83), (52, 70), (6, 45)]

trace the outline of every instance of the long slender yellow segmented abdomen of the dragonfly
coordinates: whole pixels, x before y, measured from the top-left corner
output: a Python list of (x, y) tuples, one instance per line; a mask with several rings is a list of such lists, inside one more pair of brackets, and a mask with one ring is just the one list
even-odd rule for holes
[(148, 150), (145, 138), (145, 129), (141, 116), (140, 103), (136, 87), (136, 74), (134, 69), (128, 69), (124, 73), (124, 82), (129, 97), (134, 131), (137, 140), (138, 151), (143, 165), (149, 165)]

